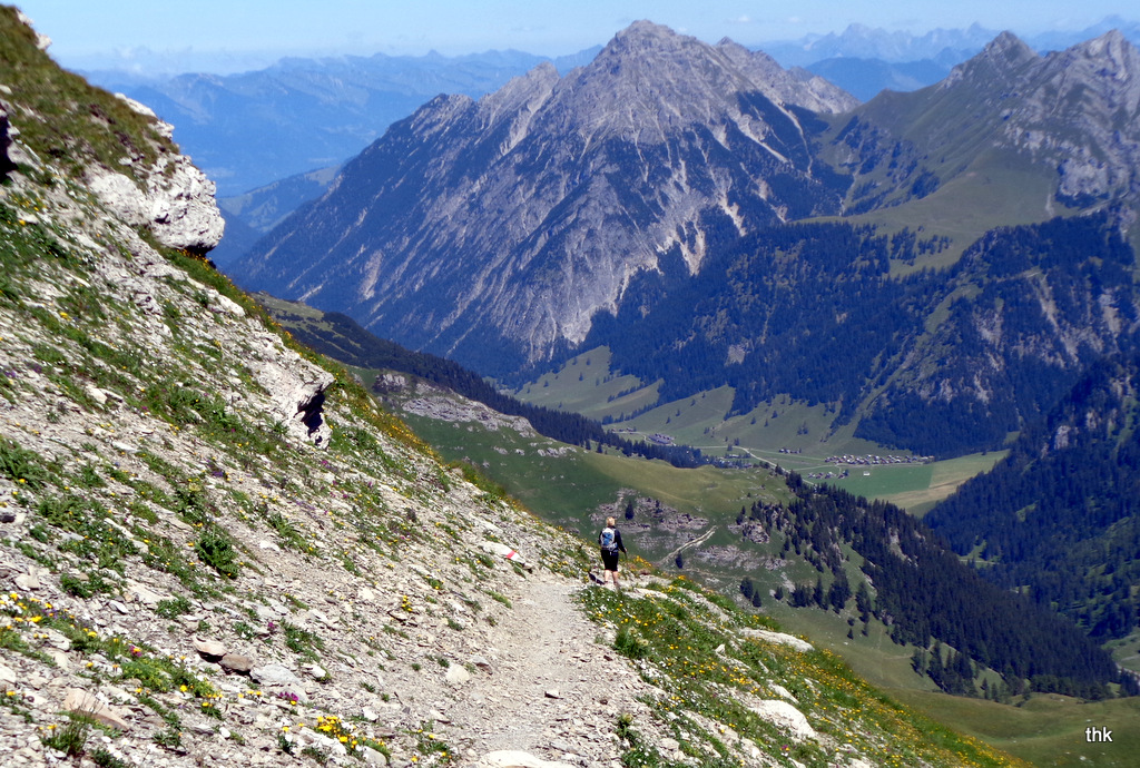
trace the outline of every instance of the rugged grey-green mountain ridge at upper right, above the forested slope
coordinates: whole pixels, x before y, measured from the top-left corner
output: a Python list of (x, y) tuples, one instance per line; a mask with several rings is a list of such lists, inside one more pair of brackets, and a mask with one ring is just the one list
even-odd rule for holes
[(1119, 32), (1045, 56), (1002, 33), (940, 83), (854, 111), (836, 140), (850, 152), (837, 158), (853, 173), (845, 210), (897, 205), (1002, 165), (1020, 179), (996, 202), (1009, 223), (1032, 211), (1019, 197), (1039, 215), (1105, 202), (1135, 210), (1138, 107), (1140, 52)]

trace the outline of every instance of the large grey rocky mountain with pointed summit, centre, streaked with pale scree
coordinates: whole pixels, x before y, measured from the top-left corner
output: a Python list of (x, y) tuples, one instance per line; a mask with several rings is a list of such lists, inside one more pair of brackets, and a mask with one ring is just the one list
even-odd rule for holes
[(638, 22), (565, 77), (547, 64), (431, 101), (234, 273), (510, 368), (581, 341), (640, 272), (691, 273), (710, 242), (837, 212), (804, 109), (854, 105), (731, 41)]

